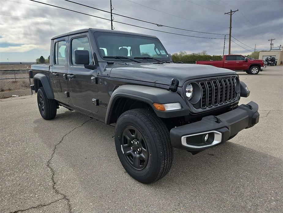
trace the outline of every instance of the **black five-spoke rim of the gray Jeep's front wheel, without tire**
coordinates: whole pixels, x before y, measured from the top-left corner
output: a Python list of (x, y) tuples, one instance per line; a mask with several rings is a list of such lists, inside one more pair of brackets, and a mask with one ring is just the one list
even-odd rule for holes
[(127, 126), (122, 131), (121, 150), (133, 168), (141, 170), (147, 165), (147, 143), (143, 135), (135, 127)]

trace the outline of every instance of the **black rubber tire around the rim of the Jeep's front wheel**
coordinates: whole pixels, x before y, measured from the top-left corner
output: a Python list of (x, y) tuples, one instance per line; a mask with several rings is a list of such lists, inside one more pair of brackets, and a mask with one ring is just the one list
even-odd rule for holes
[[(148, 151), (148, 160), (144, 168), (134, 168), (122, 151), (122, 134), (125, 128), (136, 128), (143, 136)], [(173, 147), (169, 131), (155, 113), (146, 109), (132, 109), (118, 118), (115, 127), (115, 145), (122, 166), (132, 178), (150, 184), (165, 176), (173, 162)]]

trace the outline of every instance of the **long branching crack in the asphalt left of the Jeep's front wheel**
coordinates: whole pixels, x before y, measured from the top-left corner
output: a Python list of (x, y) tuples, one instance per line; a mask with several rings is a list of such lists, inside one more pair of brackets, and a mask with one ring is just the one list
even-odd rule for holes
[[(92, 118), (91, 118), (91, 119), (92, 119)], [(20, 212), (20, 211), (27, 211), (27, 210), (30, 210), (30, 209), (36, 209), (36, 208), (38, 208), (38, 207), (48, 206), (48, 205), (50, 205), (50, 204), (52, 204), (52, 203), (56, 203), (56, 202), (58, 202), (58, 201), (60, 201), (60, 200), (66, 200), (66, 201), (67, 201), (69, 212), (72, 213), (72, 207), (71, 207), (70, 199), (69, 199), (64, 193), (59, 192), (59, 190), (55, 187), (55, 184), (56, 184), (56, 181), (55, 181), (55, 179), (54, 179), (55, 171), (54, 171), (54, 169), (52, 168), (52, 166), (50, 165), (50, 162), (51, 162), (51, 160), (52, 160), (53, 157), (54, 157), (54, 154), (55, 154), (55, 151), (56, 151), (57, 146), (58, 146), (59, 144), (61, 144), (61, 142), (64, 140), (64, 138), (65, 138), (68, 134), (70, 134), (71, 132), (73, 132), (75, 129), (82, 127), (86, 122), (90, 121), (91, 119), (88, 119), (87, 121), (83, 122), (80, 126), (77, 126), (77, 127), (73, 128), (71, 131), (69, 131), (68, 133), (66, 133), (66, 134), (61, 138), (61, 140), (54, 146), (53, 152), (52, 152), (52, 154), (51, 154), (51, 157), (50, 157), (50, 159), (47, 161), (47, 167), (50, 168), (50, 171), (51, 171), (51, 173), (52, 173), (52, 176), (51, 176), (51, 180), (52, 180), (52, 182), (53, 182), (52, 188), (54, 189), (54, 191), (55, 191), (56, 194), (61, 195), (61, 196), (63, 196), (63, 197), (62, 197), (61, 199), (52, 201), (52, 202), (47, 203), (47, 204), (39, 204), (39, 205), (34, 206), (34, 207), (29, 207), (29, 208), (27, 208), (27, 209), (19, 209), (19, 210), (17, 210), (17, 211), (12, 211), (12, 212), (10, 212), (10, 213), (17, 213), (17, 212)]]

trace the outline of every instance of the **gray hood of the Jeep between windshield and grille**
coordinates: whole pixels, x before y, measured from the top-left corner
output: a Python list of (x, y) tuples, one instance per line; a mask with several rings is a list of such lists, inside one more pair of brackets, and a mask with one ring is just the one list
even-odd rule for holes
[(173, 78), (179, 80), (179, 87), (182, 87), (187, 80), (235, 75), (236, 72), (201, 64), (152, 64), (132, 63), (113, 64), (110, 77), (132, 79), (137, 81), (151, 82), (170, 85)]

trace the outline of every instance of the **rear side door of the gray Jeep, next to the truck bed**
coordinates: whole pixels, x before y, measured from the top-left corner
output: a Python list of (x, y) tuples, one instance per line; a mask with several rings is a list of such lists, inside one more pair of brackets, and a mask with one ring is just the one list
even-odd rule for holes
[(53, 66), (50, 67), (52, 75), (52, 88), (55, 99), (69, 103), (67, 87), (67, 42), (68, 37), (54, 40)]

